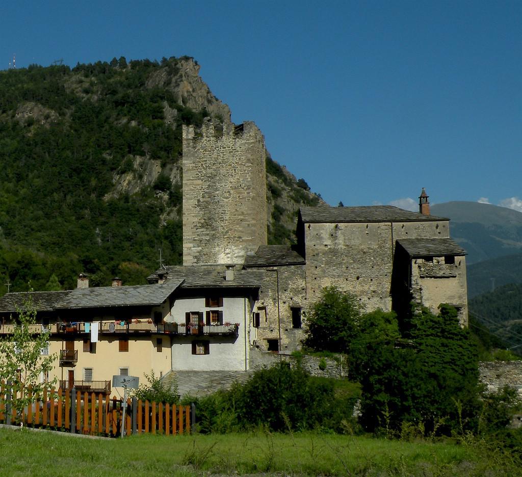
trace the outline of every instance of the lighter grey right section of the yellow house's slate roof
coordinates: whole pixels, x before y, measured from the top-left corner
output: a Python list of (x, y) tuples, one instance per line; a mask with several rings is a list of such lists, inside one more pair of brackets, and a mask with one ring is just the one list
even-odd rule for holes
[(131, 287), (77, 288), (61, 300), (56, 308), (160, 305), (180, 286), (182, 281), (172, 280), (164, 284)]

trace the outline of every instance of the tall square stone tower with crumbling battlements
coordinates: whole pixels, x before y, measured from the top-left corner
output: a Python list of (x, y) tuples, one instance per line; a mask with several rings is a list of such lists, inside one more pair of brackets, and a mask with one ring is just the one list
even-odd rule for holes
[(257, 126), (183, 126), (183, 265), (241, 264), (267, 243), (264, 138)]

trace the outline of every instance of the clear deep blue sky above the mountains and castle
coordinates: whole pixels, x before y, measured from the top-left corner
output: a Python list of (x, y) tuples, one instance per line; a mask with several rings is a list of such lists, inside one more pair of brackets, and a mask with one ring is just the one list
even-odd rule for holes
[(0, 4), (0, 69), (194, 56), (332, 205), (522, 211), (522, 1)]

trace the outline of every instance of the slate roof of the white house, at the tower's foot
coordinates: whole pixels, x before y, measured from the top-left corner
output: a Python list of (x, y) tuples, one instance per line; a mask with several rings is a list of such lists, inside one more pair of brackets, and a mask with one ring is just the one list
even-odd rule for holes
[[(180, 288), (259, 288), (263, 282), (265, 273), (262, 270), (241, 270), (234, 268), (234, 279), (225, 280), (224, 265), (191, 265), (168, 266), (164, 270), (168, 272), (166, 283), (171, 280), (184, 280)], [(158, 278), (156, 270), (147, 279)]]

